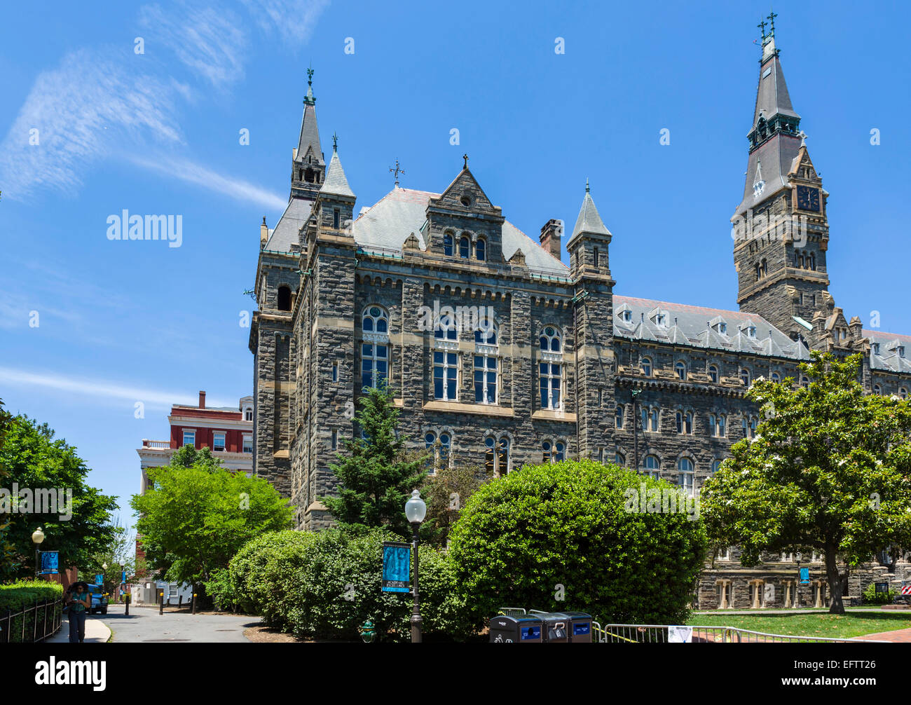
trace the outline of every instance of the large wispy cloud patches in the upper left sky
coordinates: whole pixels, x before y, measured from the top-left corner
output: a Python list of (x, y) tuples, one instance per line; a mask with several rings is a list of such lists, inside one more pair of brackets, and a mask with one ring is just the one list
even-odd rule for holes
[[(73, 195), (87, 169), (99, 161), (128, 148), (132, 153), (157, 148), (167, 154), (182, 145), (180, 112), (190, 103), (204, 102), (200, 92), (224, 90), (244, 76), (244, 59), (251, 47), (245, 23), (255, 22), (267, 35), (277, 34), (299, 46), (311, 35), (326, 5), (327, 0), (244, 0), (251, 18), (220, 5), (179, 3), (167, 10), (142, 6), (139, 21), (148, 30), (148, 40), (173, 52), (189, 73), (178, 78), (160, 62), (140, 63), (131, 47), (83, 48), (64, 56), (56, 68), (36, 77), (0, 142), (5, 198), (28, 200), (42, 189)], [(191, 77), (201, 79), (192, 89)], [(183, 169), (166, 173), (161, 164), (169, 161)], [(284, 206), (284, 199), (275, 194), (203, 169), (189, 158), (145, 158), (141, 163), (258, 205)]]

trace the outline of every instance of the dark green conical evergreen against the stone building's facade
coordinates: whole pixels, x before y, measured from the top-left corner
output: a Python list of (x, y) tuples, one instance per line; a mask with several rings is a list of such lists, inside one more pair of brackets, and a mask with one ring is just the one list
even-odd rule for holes
[(344, 442), (347, 453), (330, 465), (338, 496), (323, 497), (322, 503), (339, 526), (386, 526), (409, 537), (404, 503), (424, 482), (424, 457), (404, 453), (407, 437), (396, 434), (399, 412), (391, 389), (371, 388), (360, 404), (356, 422), (366, 438)]

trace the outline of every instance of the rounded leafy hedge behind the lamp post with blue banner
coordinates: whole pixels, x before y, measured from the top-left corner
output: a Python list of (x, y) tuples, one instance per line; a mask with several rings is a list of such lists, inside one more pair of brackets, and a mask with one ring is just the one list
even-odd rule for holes
[[(390, 531), (281, 531), (251, 540), (207, 586), (219, 608), (260, 614), (263, 622), (297, 637), (358, 639), (364, 621), (381, 639), (410, 639), (412, 598), (381, 591), (384, 541)], [(420, 597), (424, 633), (472, 636), (445, 557), (421, 547)]]

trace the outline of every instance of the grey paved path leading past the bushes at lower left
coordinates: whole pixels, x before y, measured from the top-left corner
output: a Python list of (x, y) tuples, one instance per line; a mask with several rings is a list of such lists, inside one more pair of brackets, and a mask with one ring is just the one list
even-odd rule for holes
[(259, 624), (257, 617), (235, 615), (191, 615), (189, 612), (165, 612), (158, 608), (130, 605), (129, 616), (123, 605), (111, 605), (104, 616), (107, 626), (119, 642), (204, 641), (250, 643), (243, 636), (247, 627)]

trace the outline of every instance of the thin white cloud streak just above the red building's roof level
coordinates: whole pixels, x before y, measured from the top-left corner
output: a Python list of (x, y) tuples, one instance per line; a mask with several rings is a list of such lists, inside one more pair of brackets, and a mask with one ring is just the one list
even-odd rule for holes
[[(65, 377), (52, 373), (34, 373), (0, 366), (0, 383), (17, 387), (44, 387), (57, 392), (71, 393), (82, 398), (142, 402), (147, 408), (170, 408), (171, 404), (197, 404), (195, 395), (143, 389), (128, 383), (112, 383), (87, 377)], [(207, 406), (233, 406), (237, 401), (208, 399)]]

